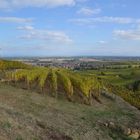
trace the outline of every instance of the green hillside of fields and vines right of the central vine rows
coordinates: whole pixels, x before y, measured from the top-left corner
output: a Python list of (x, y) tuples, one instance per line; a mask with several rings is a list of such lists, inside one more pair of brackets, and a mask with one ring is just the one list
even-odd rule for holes
[[(116, 66), (116, 65), (115, 65)], [(84, 76), (96, 76), (109, 89), (109, 92), (114, 93), (131, 105), (140, 109), (140, 68), (122, 67), (103, 68), (98, 70), (83, 70), (79, 71)]]

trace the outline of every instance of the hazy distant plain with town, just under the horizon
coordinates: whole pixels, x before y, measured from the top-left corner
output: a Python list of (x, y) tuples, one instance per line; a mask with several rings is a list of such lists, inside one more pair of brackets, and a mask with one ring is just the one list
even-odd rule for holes
[(22, 57), (12, 59), (33, 66), (58, 67), (73, 70), (120, 68), (120, 65), (127, 68), (131, 67), (129, 62), (133, 62), (134, 66), (140, 67), (140, 57)]

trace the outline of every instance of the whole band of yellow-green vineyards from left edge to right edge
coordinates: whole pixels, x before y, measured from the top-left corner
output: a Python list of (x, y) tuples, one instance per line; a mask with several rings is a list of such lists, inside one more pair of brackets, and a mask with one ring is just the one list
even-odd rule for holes
[[(114, 93), (140, 108), (139, 69), (120, 71), (72, 71), (63, 68), (32, 67), (16, 61), (0, 61), (0, 76), (9, 84), (55, 98), (92, 104), (101, 102), (103, 92)], [(135, 74), (135, 75), (134, 75)]]

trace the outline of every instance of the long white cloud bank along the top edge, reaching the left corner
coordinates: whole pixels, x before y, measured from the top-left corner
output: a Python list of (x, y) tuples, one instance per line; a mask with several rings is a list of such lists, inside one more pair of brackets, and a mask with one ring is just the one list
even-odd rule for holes
[(81, 0), (0, 0), (0, 9), (74, 6)]

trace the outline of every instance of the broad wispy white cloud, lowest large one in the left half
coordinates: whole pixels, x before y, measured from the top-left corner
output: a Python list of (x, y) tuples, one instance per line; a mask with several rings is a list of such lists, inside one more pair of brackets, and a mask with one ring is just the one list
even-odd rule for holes
[(35, 29), (32, 26), (17, 27), (18, 30), (25, 31), (25, 34), (20, 36), (21, 39), (27, 40), (43, 40), (48, 42), (71, 43), (72, 39), (62, 31), (52, 31)]

